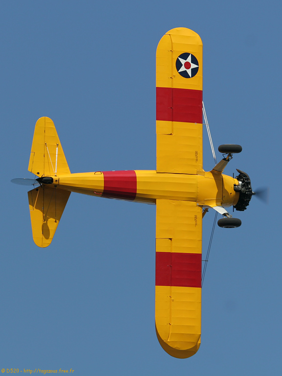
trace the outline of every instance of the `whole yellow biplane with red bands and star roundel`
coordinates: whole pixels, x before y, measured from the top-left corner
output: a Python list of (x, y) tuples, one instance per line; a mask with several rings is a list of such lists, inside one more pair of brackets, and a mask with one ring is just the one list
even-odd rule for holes
[(223, 159), (203, 170), (202, 41), (179, 27), (168, 31), (156, 58), (156, 170), (93, 171), (72, 174), (50, 118), (35, 125), (28, 170), (32, 235), (47, 247), (71, 192), (156, 205), (156, 333), (177, 358), (197, 352), (201, 339), (202, 218), (209, 208), (218, 225), (241, 221), (226, 210), (244, 211), (254, 192), (249, 176), (223, 174), (240, 145), (220, 145)]

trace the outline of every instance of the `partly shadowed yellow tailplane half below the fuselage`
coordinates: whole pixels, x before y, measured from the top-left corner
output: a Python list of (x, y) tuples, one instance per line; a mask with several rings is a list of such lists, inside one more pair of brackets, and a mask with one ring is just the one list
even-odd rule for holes
[(71, 192), (45, 185), (28, 192), (33, 240), (38, 247), (47, 247), (67, 205)]

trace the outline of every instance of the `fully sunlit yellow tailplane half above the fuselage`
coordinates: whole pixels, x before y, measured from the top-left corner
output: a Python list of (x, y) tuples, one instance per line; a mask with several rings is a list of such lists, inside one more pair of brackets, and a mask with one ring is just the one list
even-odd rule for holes
[(40, 118), (35, 124), (28, 171), (38, 177), (71, 173), (55, 125), (50, 118)]

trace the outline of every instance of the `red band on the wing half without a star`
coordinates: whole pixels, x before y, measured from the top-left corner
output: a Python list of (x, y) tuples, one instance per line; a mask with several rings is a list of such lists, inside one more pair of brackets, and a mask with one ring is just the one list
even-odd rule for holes
[(156, 286), (201, 287), (202, 255), (156, 252)]

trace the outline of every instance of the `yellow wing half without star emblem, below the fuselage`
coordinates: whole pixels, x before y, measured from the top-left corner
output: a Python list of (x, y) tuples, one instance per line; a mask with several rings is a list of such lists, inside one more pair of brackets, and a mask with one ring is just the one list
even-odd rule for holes
[(202, 210), (195, 202), (157, 200), (156, 331), (178, 358), (201, 338)]

